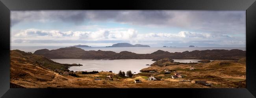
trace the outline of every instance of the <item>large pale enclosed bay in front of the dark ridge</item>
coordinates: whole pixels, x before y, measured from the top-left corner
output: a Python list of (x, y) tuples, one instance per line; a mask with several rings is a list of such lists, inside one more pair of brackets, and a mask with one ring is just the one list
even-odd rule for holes
[(132, 73), (143, 68), (149, 67), (146, 64), (152, 64), (152, 59), (125, 59), (125, 60), (82, 60), (82, 59), (51, 59), (55, 62), (63, 64), (82, 64), (82, 66), (71, 66), (71, 71), (112, 71), (118, 73), (121, 71), (129, 71)]

